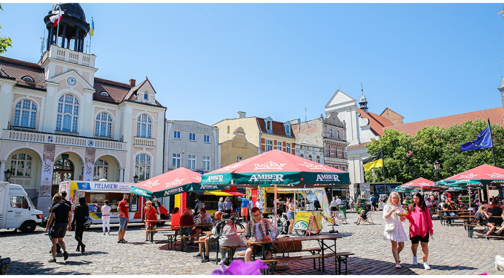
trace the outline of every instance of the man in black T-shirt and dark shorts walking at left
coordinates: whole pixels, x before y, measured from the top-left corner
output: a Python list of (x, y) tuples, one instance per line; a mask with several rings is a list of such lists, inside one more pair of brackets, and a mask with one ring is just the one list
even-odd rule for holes
[(56, 262), (56, 242), (63, 248), (65, 260), (68, 259), (67, 247), (65, 246), (63, 238), (67, 230), (70, 231), (72, 229), (72, 209), (62, 201), (61, 195), (59, 194), (54, 196), (54, 202), (56, 202), (56, 204), (51, 208), (51, 214), (49, 215), (47, 227), (45, 228), (47, 232), (52, 224), (50, 232), (52, 239), (52, 259), (48, 260), (48, 262)]

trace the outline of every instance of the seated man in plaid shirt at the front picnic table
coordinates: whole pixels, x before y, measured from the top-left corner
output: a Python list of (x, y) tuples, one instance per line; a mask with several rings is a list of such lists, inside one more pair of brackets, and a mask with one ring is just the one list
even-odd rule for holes
[[(258, 240), (276, 238), (278, 236), (278, 230), (271, 224), (269, 220), (261, 217), (261, 210), (258, 207), (253, 207), (251, 210), (252, 220), (245, 226), (245, 231), (241, 235), (241, 238), (245, 241), (251, 238)], [(272, 245), (273, 246), (273, 245)], [(254, 246), (249, 245), (245, 251), (245, 261), (251, 261), (252, 255), (259, 254), (262, 252), (261, 248), (254, 250)], [(271, 252), (266, 250), (265, 258), (271, 258)]]

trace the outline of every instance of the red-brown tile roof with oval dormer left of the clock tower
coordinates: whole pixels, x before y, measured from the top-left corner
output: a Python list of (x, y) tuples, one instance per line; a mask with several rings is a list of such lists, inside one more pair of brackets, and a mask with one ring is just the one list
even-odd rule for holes
[[(44, 69), (38, 64), (28, 63), (7, 57), (0, 57), (0, 72), (2, 77), (16, 78), (17, 86), (45, 90)], [(29, 76), (35, 82), (27, 82), (22, 78)]]

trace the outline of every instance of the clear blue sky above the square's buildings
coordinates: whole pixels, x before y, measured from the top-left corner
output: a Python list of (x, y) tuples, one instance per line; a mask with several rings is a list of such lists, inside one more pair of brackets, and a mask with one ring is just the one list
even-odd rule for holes
[[(337, 89), (358, 99), (361, 82), (370, 112), (405, 122), (502, 105), (500, 4), (81, 5), (96, 77), (148, 76), (170, 120), (285, 122), (305, 107), (310, 120)], [(2, 8), (4, 56), (37, 63), (52, 4)]]

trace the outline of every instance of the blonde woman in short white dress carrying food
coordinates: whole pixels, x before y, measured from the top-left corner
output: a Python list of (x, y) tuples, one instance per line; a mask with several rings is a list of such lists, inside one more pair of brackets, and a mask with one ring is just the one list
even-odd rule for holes
[[(392, 255), (396, 261), (396, 268), (401, 268), (399, 258), (399, 253), (404, 248), (404, 242), (408, 240), (406, 233), (404, 232), (402, 221), (405, 220), (404, 216), (396, 215), (397, 212), (404, 212), (401, 206), (399, 194), (397, 192), (392, 192), (387, 200), (387, 204), (383, 208), (383, 218), (385, 219), (386, 231), (383, 232), (383, 239), (390, 240), (392, 243)], [(394, 229), (392, 231), (387, 231), (391, 224), (394, 224)]]

